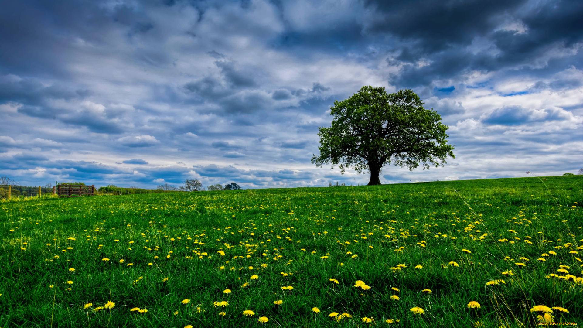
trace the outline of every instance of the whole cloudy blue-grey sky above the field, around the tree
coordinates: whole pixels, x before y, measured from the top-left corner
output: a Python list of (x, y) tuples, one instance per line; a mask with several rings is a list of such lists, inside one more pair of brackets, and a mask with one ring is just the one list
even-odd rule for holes
[(384, 184), (577, 173), (582, 17), (579, 0), (3, 2), (0, 176), (366, 184), (310, 162), (364, 85), (412, 89), (455, 146)]

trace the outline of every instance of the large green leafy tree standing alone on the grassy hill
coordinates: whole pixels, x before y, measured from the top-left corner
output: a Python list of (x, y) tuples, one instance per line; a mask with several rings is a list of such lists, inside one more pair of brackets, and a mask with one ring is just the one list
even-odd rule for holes
[(317, 166), (339, 165), (342, 173), (352, 168), (370, 172), (368, 185), (381, 184), (378, 176), (385, 163), (413, 170), (423, 163), (443, 166), (445, 158), (455, 158), (454, 146), (447, 144), (447, 125), (412, 90), (388, 94), (385, 88), (363, 86), (349, 99), (334, 102), (332, 127), (320, 127), (320, 155)]

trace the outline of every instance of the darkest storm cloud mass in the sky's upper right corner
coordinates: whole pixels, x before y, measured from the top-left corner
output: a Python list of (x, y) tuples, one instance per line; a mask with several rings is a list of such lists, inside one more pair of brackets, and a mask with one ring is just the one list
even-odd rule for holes
[[(391, 83), (415, 87), (473, 70), (541, 67), (583, 40), (583, 3), (574, 0), (368, 1), (378, 19), (371, 34), (397, 37)], [(418, 61), (429, 65), (417, 65)]]

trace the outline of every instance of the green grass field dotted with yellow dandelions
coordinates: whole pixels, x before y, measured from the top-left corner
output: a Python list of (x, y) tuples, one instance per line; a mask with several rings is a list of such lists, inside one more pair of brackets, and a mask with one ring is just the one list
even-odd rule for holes
[(581, 325), (582, 204), (583, 176), (3, 202), (0, 327)]

